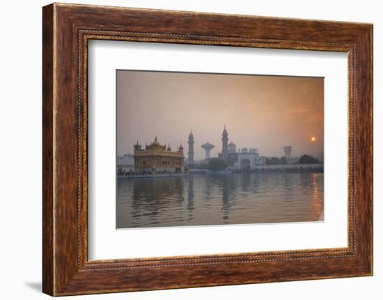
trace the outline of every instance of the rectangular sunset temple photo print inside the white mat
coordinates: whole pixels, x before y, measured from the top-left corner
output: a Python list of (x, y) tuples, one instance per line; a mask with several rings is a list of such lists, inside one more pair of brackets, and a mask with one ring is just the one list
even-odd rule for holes
[(116, 71), (116, 228), (324, 221), (324, 78)]

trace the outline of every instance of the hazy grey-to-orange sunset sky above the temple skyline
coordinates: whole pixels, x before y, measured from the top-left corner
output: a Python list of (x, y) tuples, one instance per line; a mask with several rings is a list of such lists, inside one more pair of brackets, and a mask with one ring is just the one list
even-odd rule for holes
[[(317, 155), (323, 151), (323, 78), (182, 72), (117, 71), (117, 153), (133, 145), (184, 146), (194, 134), (194, 159), (203, 159), (203, 143), (221, 152), (226, 124), (237, 148), (255, 147), (260, 155)], [(311, 137), (316, 141), (312, 142)]]

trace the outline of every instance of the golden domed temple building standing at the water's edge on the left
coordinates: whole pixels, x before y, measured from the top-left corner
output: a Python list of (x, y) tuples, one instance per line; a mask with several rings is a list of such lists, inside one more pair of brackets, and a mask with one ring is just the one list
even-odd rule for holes
[(161, 145), (155, 141), (146, 145), (145, 149), (134, 145), (134, 173), (184, 173), (184, 149), (180, 145), (177, 151), (172, 151), (170, 145)]

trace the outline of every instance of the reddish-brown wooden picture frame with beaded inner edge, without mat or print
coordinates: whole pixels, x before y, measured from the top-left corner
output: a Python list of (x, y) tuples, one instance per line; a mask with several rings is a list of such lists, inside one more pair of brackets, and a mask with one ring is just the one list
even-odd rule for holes
[[(54, 3), (43, 8), (42, 33), (43, 292), (63, 296), (373, 274), (371, 24)], [(89, 261), (92, 39), (347, 52), (347, 248)]]

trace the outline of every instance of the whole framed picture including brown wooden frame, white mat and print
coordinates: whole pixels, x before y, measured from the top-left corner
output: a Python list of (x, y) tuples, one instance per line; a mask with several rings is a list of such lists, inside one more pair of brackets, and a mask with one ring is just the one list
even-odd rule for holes
[(373, 26), (42, 9), (43, 292), (373, 274)]

